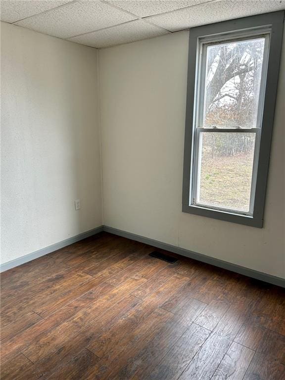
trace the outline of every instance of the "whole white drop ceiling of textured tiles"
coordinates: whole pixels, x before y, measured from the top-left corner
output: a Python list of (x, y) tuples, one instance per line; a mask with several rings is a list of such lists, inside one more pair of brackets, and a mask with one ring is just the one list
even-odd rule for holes
[(1, 0), (1, 21), (91, 47), (285, 9), (285, 0)]

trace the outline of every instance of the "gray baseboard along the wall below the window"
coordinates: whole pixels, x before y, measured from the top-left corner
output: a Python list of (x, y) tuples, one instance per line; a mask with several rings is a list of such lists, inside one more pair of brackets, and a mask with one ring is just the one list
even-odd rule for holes
[(152, 245), (156, 248), (165, 249), (166, 251), (177, 253), (182, 256), (190, 257), (191, 259), (202, 261), (206, 264), (214, 265), (215, 267), (227, 269), (229, 271), (238, 273), (240, 275), (248, 276), (256, 280), (264, 281), (269, 284), (278, 285), (285, 287), (285, 279), (282, 279), (281, 277), (276, 277), (272, 275), (268, 275), (263, 272), (255, 271), (254, 269), (249, 269), (245, 267), (241, 267), (237, 264), (229, 263), (228, 261), (223, 261), (219, 259), (215, 259), (214, 257), (206, 256), (201, 253), (193, 252), (188, 249), (180, 248), (175, 245), (163, 243), (162, 241), (145, 238), (140, 235), (132, 234), (130, 232), (117, 230), (116, 228), (104, 226), (104, 231), (109, 232), (110, 234), (122, 236), (124, 238), (128, 238), (131, 240), (140, 241), (145, 244)]

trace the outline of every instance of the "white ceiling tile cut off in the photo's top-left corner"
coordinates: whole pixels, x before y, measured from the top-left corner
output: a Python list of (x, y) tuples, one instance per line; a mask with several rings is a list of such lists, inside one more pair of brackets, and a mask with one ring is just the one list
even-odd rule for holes
[(72, 0), (1, 0), (0, 19), (15, 22), (33, 16)]

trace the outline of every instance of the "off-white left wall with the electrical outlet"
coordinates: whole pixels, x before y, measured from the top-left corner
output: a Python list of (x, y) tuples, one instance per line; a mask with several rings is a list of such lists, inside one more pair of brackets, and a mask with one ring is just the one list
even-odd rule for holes
[(4, 263), (102, 217), (97, 50), (6, 23), (1, 40)]

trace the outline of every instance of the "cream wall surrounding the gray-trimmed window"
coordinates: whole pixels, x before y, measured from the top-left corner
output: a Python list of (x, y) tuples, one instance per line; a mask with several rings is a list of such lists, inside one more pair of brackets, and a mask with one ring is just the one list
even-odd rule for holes
[(188, 32), (99, 51), (104, 224), (284, 278), (285, 48), (263, 229), (181, 211), (187, 60)]

